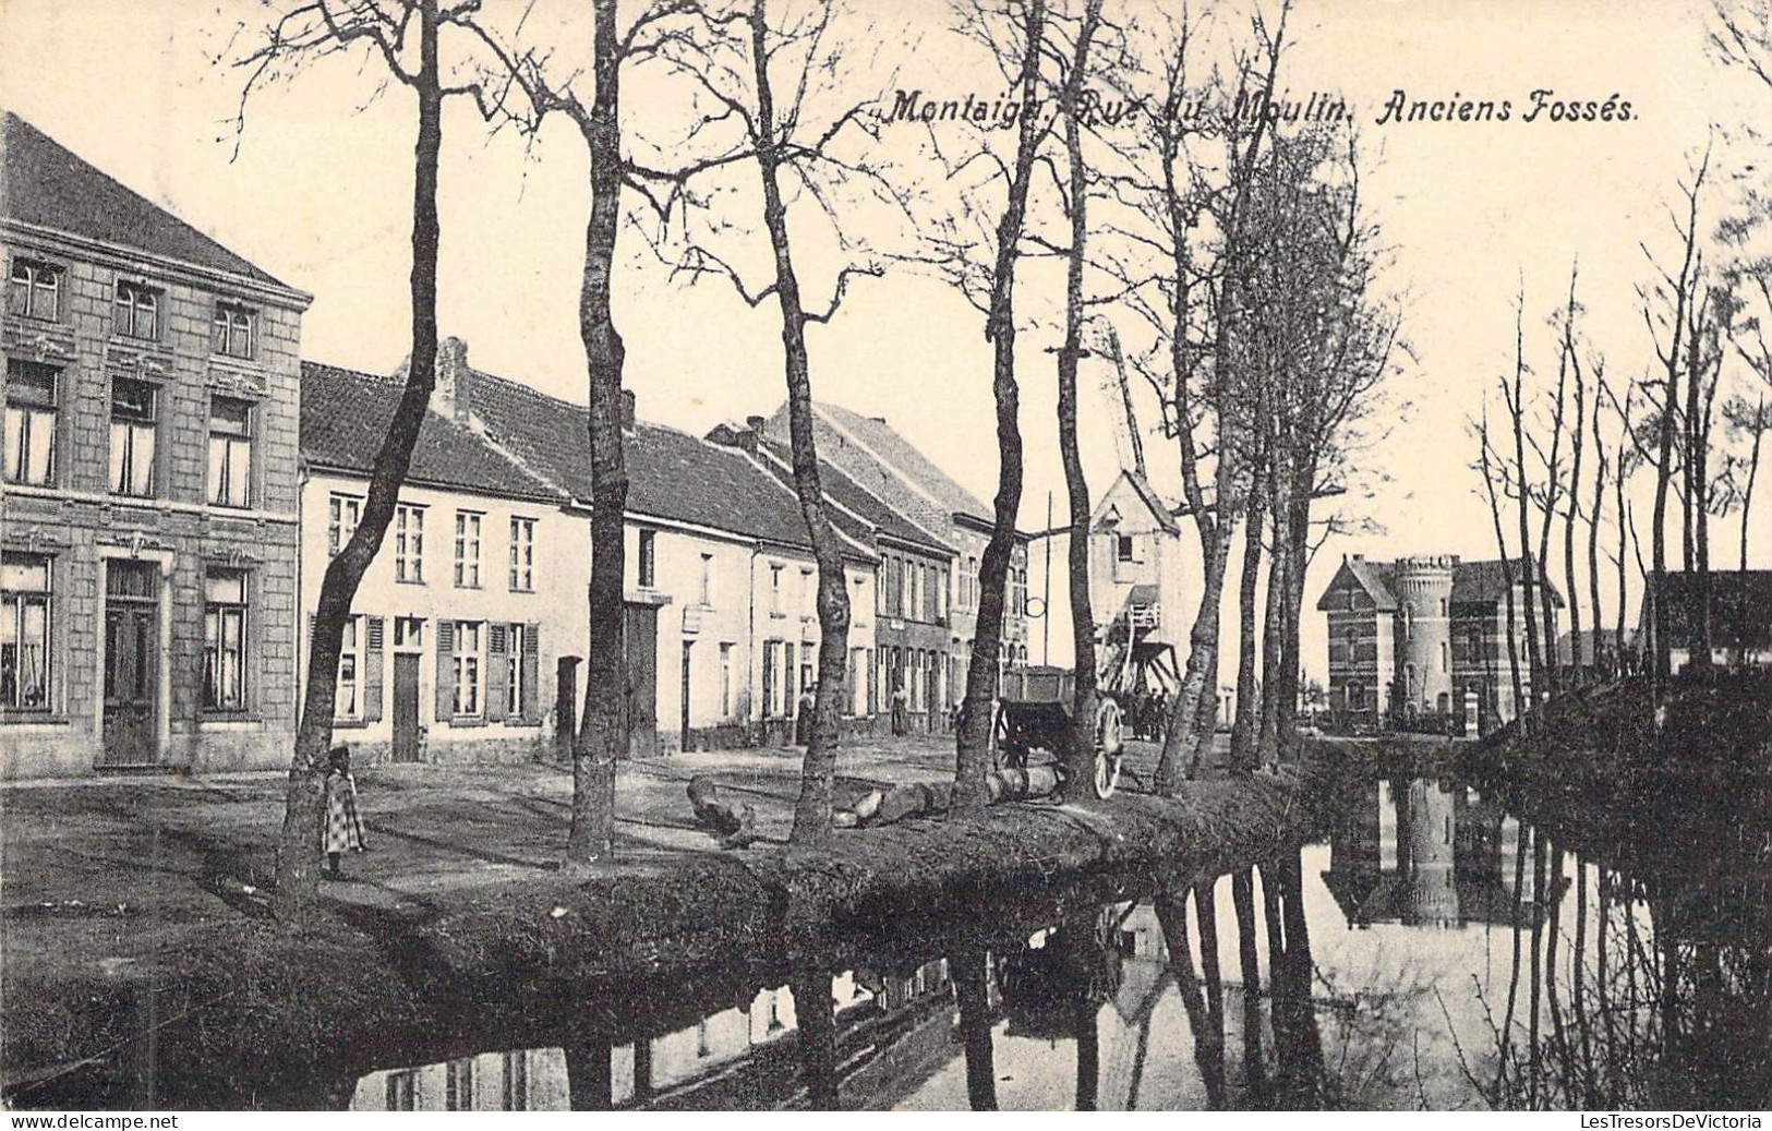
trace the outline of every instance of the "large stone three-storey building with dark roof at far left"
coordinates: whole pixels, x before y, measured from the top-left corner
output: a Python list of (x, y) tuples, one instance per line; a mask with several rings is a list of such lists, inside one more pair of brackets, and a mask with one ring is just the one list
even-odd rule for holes
[(310, 298), (11, 113), (0, 168), (0, 775), (284, 764)]

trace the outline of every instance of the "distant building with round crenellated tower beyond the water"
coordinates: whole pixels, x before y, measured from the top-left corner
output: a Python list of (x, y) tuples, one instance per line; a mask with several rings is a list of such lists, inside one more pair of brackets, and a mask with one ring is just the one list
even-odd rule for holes
[[(1517, 566), (1508, 571), (1499, 560), (1464, 562), (1457, 555), (1343, 558), (1317, 601), (1329, 620), (1329, 709), (1384, 723), (1462, 716), (1474, 704), (1483, 732), (1512, 720), (1519, 707), (1508, 658), (1510, 576), (1513, 651), (1529, 697), (1526, 594)], [(1554, 622), (1563, 594), (1543, 571), (1536, 594), (1549, 596)]]

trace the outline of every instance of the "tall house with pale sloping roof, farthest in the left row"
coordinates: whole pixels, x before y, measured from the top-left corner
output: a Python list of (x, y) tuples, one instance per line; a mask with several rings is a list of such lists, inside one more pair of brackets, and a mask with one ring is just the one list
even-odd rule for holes
[[(882, 417), (865, 417), (840, 404), (815, 402), (819, 457), (843, 470), (865, 491), (953, 548), (948, 592), (948, 679), (943, 709), (966, 695), (966, 672), (978, 631), (978, 569), (991, 541), (994, 512), (957, 484)], [(789, 443), (787, 404), (764, 424), (776, 443)], [(1028, 539), (1015, 535), (1003, 612), (1001, 663), (1028, 663)]]

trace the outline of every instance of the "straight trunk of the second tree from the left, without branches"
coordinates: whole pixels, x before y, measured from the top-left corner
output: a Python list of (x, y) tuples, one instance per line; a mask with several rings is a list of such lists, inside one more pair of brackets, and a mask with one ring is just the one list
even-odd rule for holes
[(578, 333), (590, 385), (590, 656), (585, 713), (572, 743), (572, 824), (565, 863), (581, 869), (615, 849), (615, 768), (627, 753), (626, 569), (627, 457), (622, 367), (627, 351), (610, 312), (622, 222), (620, 48), (615, 0), (595, 0), (595, 101), (579, 126), (590, 154), (590, 220), (578, 294)]

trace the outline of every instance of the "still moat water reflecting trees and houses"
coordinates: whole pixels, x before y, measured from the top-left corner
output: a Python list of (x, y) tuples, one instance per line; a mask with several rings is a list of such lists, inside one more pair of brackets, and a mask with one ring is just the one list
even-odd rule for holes
[(604, 987), (578, 1009), (602, 1021), (555, 1044), (468, 1037), (471, 1053), (432, 1064), (386, 1049), (312, 1099), (1763, 1108), (1767, 849), (1753, 792), (1524, 803), (1373, 778), (1345, 791), (1324, 838), (1240, 872), (854, 931), (820, 948), (835, 963)]

